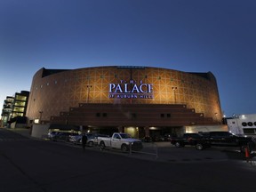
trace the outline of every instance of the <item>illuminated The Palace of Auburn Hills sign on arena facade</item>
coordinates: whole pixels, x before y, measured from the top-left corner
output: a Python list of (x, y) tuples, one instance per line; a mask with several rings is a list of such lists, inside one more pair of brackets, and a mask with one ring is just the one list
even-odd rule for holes
[(134, 80), (126, 82), (121, 80), (119, 84), (109, 84), (109, 98), (117, 99), (153, 99), (153, 84), (145, 84)]

